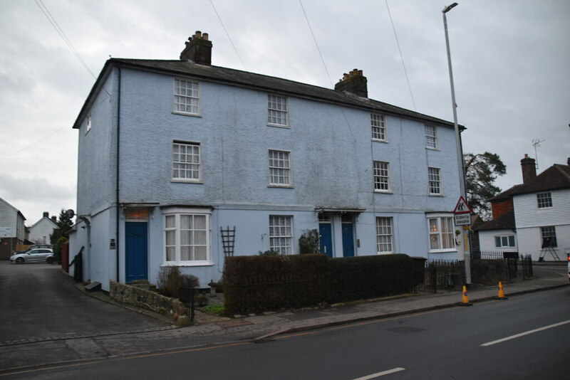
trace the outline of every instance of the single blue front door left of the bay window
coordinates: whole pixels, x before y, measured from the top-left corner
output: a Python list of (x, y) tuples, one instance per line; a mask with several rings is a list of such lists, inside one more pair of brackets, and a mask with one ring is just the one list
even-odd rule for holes
[(148, 280), (147, 222), (125, 223), (126, 283)]

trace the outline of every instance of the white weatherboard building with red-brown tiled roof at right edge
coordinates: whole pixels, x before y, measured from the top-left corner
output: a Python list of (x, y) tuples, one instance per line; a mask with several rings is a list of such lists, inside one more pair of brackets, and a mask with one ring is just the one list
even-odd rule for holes
[(523, 183), (490, 199), (493, 220), (477, 228), (481, 250), (519, 252), (533, 260), (566, 260), (570, 253), (570, 158), (537, 175), (521, 160)]

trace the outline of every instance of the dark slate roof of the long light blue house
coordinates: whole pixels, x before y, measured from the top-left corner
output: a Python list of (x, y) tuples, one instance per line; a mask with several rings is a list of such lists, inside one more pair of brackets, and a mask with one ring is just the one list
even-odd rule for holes
[[(452, 122), (424, 115), (419, 112), (406, 110), (405, 108), (390, 105), (385, 102), (379, 102), (378, 100), (358, 97), (353, 94), (343, 93), (330, 88), (322, 88), (315, 85), (308, 85), (306, 83), (294, 82), (293, 80), (271, 77), (269, 75), (249, 73), (247, 71), (222, 68), (214, 65), (199, 65), (186, 60), (110, 58), (105, 63), (103, 70), (101, 70), (95, 85), (93, 85), (93, 88), (91, 89), (91, 92), (88, 95), (73, 128), (78, 128), (80, 126), (80, 122), (83, 120), (83, 113), (86, 111), (88, 104), (90, 104), (92, 97), (96, 92), (98, 92), (104, 79), (110, 72), (110, 69), (114, 66), (121, 68), (133, 68), (135, 70), (150, 70), (170, 75), (191, 76), (192, 78), (201, 80), (283, 93), (284, 95), (293, 95), (296, 97), (304, 97), (323, 102), (331, 102), (338, 105), (346, 105), (348, 107), (357, 107), (370, 110), (372, 112), (381, 112), (385, 115), (396, 115), (413, 120), (420, 120), (422, 122), (431, 122), (444, 127), (454, 127)], [(460, 130), (465, 130), (465, 127), (460, 125)]]

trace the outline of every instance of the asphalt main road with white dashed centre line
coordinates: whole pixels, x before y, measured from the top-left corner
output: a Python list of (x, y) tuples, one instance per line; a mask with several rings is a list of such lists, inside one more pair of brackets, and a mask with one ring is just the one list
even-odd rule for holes
[(8, 379), (567, 379), (570, 289)]

